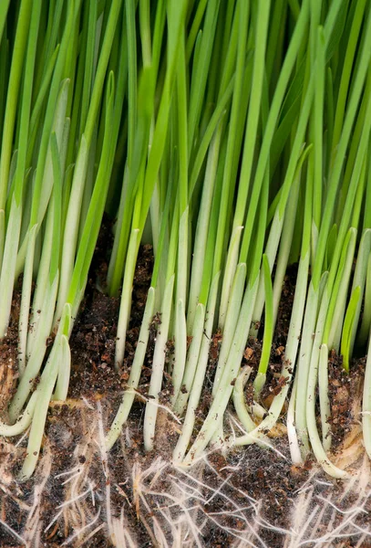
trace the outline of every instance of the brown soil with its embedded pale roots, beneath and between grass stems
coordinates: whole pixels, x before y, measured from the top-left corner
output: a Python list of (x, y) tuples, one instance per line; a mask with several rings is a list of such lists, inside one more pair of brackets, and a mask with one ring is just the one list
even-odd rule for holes
[[(235, 542), (241, 548), (248, 545), (279, 548), (283, 546), (292, 526), (296, 501), (306, 492), (305, 489), (309, 489), (306, 487), (308, 485), (315, 503), (324, 504), (318, 501), (329, 498), (336, 501), (339, 512), (333, 515), (327, 511), (324, 515), (328, 516), (328, 522), (333, 527), (340, 523), (342, 509), (346, 513), (349, 508), (353, 508), (355, 495), (351, 493), (343, 497), (342, 482), (329, 480), (311, 460), (303, 468), (294, 467), (284, 435), (274, 438), (274, 450), (264, 450), (253, 445), (226, 456), (214, 452), (199, 465), (192, 467), (190, 472), (176, 470), (171, 468), (169, 461), (171, 447), (177, 437), (176, 424), (169, 415), (160, 413), (160, 435), (156, 438), (155, 451), (146, 454), (142, 446), (144, 405), (139, 398), (119, 443), (112, 449), (108, 459), (105, 457), (99, 444), (118, 409), (129, 378), (153, 266), (152, 250), (150, 246), (143, 246), (139, 251), (134, 279), (133, 307), (124, 364), (121, 371), (117, 372), (114, 353), (118, 335), (119, 298), (110, 298), (98, 290), (105, 286), (108, 240), (109, 230), (106, 226), (98, 239), (87, 294), (70, 339), (72, 372), (68, 399), (66, 404), (53, 403), (49, 408), (43, 455), (35, 477), (23, 484), (15, 480), (19, 462), (25, 455), (26, 439), (15, 438), (11, 443), (3, 440), (0, 444), (0, 462), (5, 463), (6, 472), (2, 478), (3, 483), (0, 483), (0, 493), (3, 493), (0, 495), (0, 520), (11, 528), (1, 528), (0, 523), (0, 546), (24, 545), (19, 543), (16, 534), (22, 535), (25, 531), (31, 534), (33, 528), (36, 531), (35, 538), (38, 539), (32, 544), (35, 546), (54, 548), (63, 543), (97, 548), (111, 546), (107, 532), (109, 521), (111, 532), (119, 527), (119, 523), (125, 525), (126, 534), (133, 541), (131, 545), (158, 546), (160, 541), (156, 523), (161, 524), (165, 537), (169, 539), (172, 535), (171, 523), (191, 516), (190, 519), (194, 519), (201, 528), (204, 546), (222, 548)], [(284, 279), (282, 305), (267, 383), (262, 394), (265, 406), (270, 405), (285, 382), (281, 369), (295, 279), (294, 266)], [(15, 316), (17, 299), (19, 294), (15, 293)], [(157, 316), (151, 325), (139, 393), (145, 394), (148, 390), (154, 338), (159, 325), (160, 316)], [(15, 326), (16, 318), (11, 321), (7, 337), (0, 346), (0, 382), (4, 386), (0, 392), (0, 412), (5, 411), (16, 376)], [(258, 333), (258, 339), (249, 340), (243, 356), (243, 364), (252, 366), (254, 372), (262, 350), (260, 335), (261, 332)], [(211, 403), (211, 383), (221, 343), (221, 333), (214, 333), (196, 427), (201, 427)], [(171, 348), (170, 341), (169, 359)], [(332, 354), (329, 360), (332, 406), (330, 424), (334, 448), (338, 452), (341, 452), (345, 437), (352, 433), (356, 425), (355, 395), (359, 392), (364, 367), (365, 359), (358, 359), (352, 364), (352, 373), (347, 375), (342, 370), (338, 356)], [(252, 398), (252, 381), (246, 386), (247, 403)], [(170, 375), (165, 375), (161, 395), (161, 401), (165, 404), (170, 391)], [(232, 406), (230, 411), (233, 411)], [(284, 406), (283, 434), (286, 411), (287, 406)], [(81, 493), (85, 493), (84, 496)], [(181, 501), (181, 493), (185, 497), (183, 506), (174, 502), (175, 495), (178, 495), (176, 500)], [(107, 501), (110, 501), (109, 504)], [(94, 526), (88, 528), (88, 523), (94, 520)], [(368, 514), (356, 513), (354, 522), (355, 527), (365, 528), (370, 525), (370, 518)], [(76, 540), (71, 538), (74, 531), (84, 531), (84, 527), (87, 528), (86, 534)], [(88, 534), (96, 529), (89, 539)], [(246, 536), (246, 531), (250, 536)], [(342, 539), (342, 544), (334, 541), (331, 545), (356, 546), (359, 532), (355, 529), (353, 534), (348, 534), (350, 536), (346, 543)], [(126, 539), (128, 545), (129, 537)], [(368, 544), (362, 545), (366, 547)]]

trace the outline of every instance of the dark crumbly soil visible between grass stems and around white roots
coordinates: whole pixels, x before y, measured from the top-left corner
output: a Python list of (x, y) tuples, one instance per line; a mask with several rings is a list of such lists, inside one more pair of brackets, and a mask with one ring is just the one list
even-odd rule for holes
[[(119, 516), (121, 509), (125, 511), (127, 526), (129, 531), (133, 532), (138, 546), (157, 545), (157, 540), (151, 532), (149, 523), (156, 517), (156, 512), (159, 512), (161, 505), (162, 507), (172, 508), (169, 506), (165, 493), (173, 492), (175, 489), (173, 470), (172, 473), (167, 473), (164, 465), (164, 473), (156, 475), (153, 472), (149, 474), (148, 479), (143, 479), (142, 489), (145, 489), (151, 481), (150, 489), (146, 495), (149, 508), (146, 508), (143, 500), (138, 498), (139, 490), (136, 487), (136, 478), (133, 475), (134, 463), (136, 463), (138, 470), (150, 469), (151, 463), (160, 456), (163, 458), (162, 462), (166, 464), (166, 458), (170, 457), (171, 448), (177, 437), (176, 427), (174, 427), (169, 416), (159, 414), (159, 430), (162, 433), (156, 439), (156, 452), (145, 454), (142, 448), (141, 431), (144, 405), (139, 398), (133, 406), (129, 426), (124, 431), (123, 439), (125, 439), (125, 444), (123, 442), (116, 444), (109, 454), (108, 463), (99, 455), (97, 448), (97, 412), (101, 414), (103, 423), (107, 428), (118, 409), (122, 392), (129, 378), (153, 266), (151, 248), (149, 246), (140, 248), (133, 287), (133, 307), (126, 338), (125, 359), (122, 370), (117, 372), (114, 367), (114, 353), (115, 340), (119, 336), (119, 333), (117, 333), (119, 299), (110, 298), (97, 288), (97, 280), (100, 288), (105, 286), (108, 269), (106, 260), (107, 248), (109, 248), (109, 245), (107, 245), (108, 238), (109, 231), (104, 228), (98, 240), (95, 260), (90, 270), (86, 298), (70, 339), (72, 373), (68, 400), (65, 405), (54, 404), (49, 408), (44, 458), (41, 459), (36, 477), (27, 481), (26, 484), (19, 486), (13, 484), (12, 492), (17, 492), (17, 497), (8, 496), (6, 492), (3, 495), (0, 494), (0, 519), (3, 522), (6, 521), (15, 532), (20, 533), (25, 527), (26, 512), (22, 510), (19, 501), (29, 503), (29, 498), (31, 496), (32, 499), (35, 486), (40, 484), (43, 475), (49, 475), (43, 492), (43, 515), (41, 517), (43, 527), (41, 529), (40, 546), (53, 548), (60, 546), (74, 530), (84, 525), (72, 514), (69, 518), (66, 517), (66, 514), (61, 514), (61, 517), (49, 526), (55, 519), (58, 506), (66, 500), (67, 491), (73, 483), (72, 481), (64, 483), (66, 479), (64, 474), (70, 469), (77, 469), (77, 471), (80, 471), (79, 467), (88, 469), (88, 478), (91, 489), (95, 493), (95, 498), (91, 497), (89, 501), (84, 502), (84, 513), (87, 519), (91, 520), (97, 514), (97, 501), (104, 508), (104, 501), (109, 488), (109, 497), (115, 516)], [(296, 268), (293, 267), (284, 280), (282, 305), (277, 319), (267, 383), (262, 394), (262, 403), (267, 407), (285, 382), (285, 379), (281, 376), (281, 369), (294, 300), (295, 279)], [(15, 306), (15, 311), (16, 309)], [(5, 386), (5, 389), (0, 392), (0, 412), (5, 410), (15, 377), (17, 332), (12, 327), (13, 325), (16, 326), (16, 318), (11, 323), (7, 338), (0, 346), (0, 382)], [(159, 325), (160, 316), (157, 316), (151, 326), (149, 349), (141, 376), (139, 393), (146, 394), (148, 390), (151, 355)], [(201, 427), (202, 419), (206, 416), (211, 403), (212, 379), (221, 343), (222, 335), (220, 332), (216, 332), (211, 341), (207, 378), (201, 406), (198, 409), (197, 424), (199, 427)], [(169, 342), (169, 359), (171, 345), (172, 342)], [(259, 339), (249, 340), (243, 356), (243, 364), (252, 366), (254, 372), (257, 371), (259, 365), (261, 350), (262, 344)], [(352, 416), (351, 411), (353, 395), (356, 392), (354, 387), (359, 385), (359, 380), (364, 374), (364, 366), (365, 361), (358, 360), (357, 363), (352, 365), (352, 374), (346, 375), (342, 370), (339, 357), (332, 355), (330, 358), (329, 388), (333, 413), (331, 428), (335, 448), (341, 447), (345, 434), (355, 422), (355, 417)], [(245, 394), (248, 404), (252, 399), (252, 381), (246, 386)], [(170, 389), (170, 375), (168, 375), (165, 377), (162, 391), (162, 401), (164, 403), (170, 395)], [(283, 425), (285, 412), (286, 407), (283, 407)], [(93, 437), (93, 434), (95, 437)], [(91, 439), (89, 440), (90, 435)], [(189, 482), (194, 482), (194, 484), (191, 483), (193, 487), (190, 489), (194, 489), (190, 490), (190, 501), (194, 497), (194, 504), (198, 505), (198, 511), (201, 515), (200, 520), (207, 519), (211, 523), (204, 530), (205, 546), (215, 548), (230, 546), (232, 540), (236, 538), (237, 532), (242, 531), (247, 522), (254, 522), (257, 519), (256, 504), (259, 501), (263, 501), (263, 507), (259, 513), (259, 519), (262, 521), (260, 529), (262, 541), (270, 548), (283, 546), (283, 530), (290, 528), (293, 501), (314, 470), (314, 464), (311, 461), (305, 463), (302, 469), (292, 466), (286, 439), (284, 436), (274, 439), (277, 452), (263, 450), (257, 446), (248, 446), (233, 451), (226, 457), (223, 457), (220, 453), (212, 454), (207, 462), (202, 465), (203, 469), (200, 471), (202, 488), (197, 483), (199, 471), (195, 467), (191, 479), (188, 479)], [(0, 458), (6, 457), (11, 464), (15, 465), (16, 469), (17, 460), (23, 458), (25, 447), (26, 441), (21, 442), (12, 458), (3, 443), (0, 448), (2, 451)], [(48, 455), (52, 456), (52, 460), (47, 459)], [(46, 469), (47, 462), (51, 467), (49, 471)], [(43, 467), (46, 468), (43, 469)], [(179, 483), (181, 478), (179, 472), (176, 483)], [(339, 493), (341, 492), (340, 482), (329, 482), (328, 478), (325, 478), (325, 474), (321, 472), (317, 474), (316, 478), (318, 482), (315, 484), (314, 497), (325, 497), (328, 493), (336, 492), (336, 490)], [(83, 487), (81, 487), (82, 489)], [(195, 497), (196, 489), (200, 490), (201, 498)], [(154, 494), (154, 491), (157, 494)], [(347, 502), (349, 501), (342, 502), (344, 507), (346, 507)], [(236, 504), (238, 511), (236, 510)], [(172, 519), (176, 520), (177, 514), (171, 514), (171, 511), (175, 510), (169, 511)], [(158, 515), (160, 519), (160, 513)], [(102, 518), (104, 518), (104, 510), (102, 511)], [(272, 531), (272, 527), (268, 527), (264, 523), (269, 523), (277, 529)], [(356, 545), (352, 542), (351, 538), (349, 546)], [(15, 540), (14, 535), (0, 529), (0, 546), (18, 545), (19, 543)], [(110, 546), (106, 527), (103, 526), (90, 541), (83, 543), (83, 545), (97, 548)], [(258, 543), (257, 545), (260, 546), (261, 544)], [(364, 545), (366, 546), (366, 544)]]

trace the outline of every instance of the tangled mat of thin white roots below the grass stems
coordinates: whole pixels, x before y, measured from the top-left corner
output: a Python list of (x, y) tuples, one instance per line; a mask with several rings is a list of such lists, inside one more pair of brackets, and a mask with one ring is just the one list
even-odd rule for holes
[(266, 450), (250, 446), (226, 457), (214, 451), (184, 469), (165, 451), (143, 455), (134, 422), (107, 454), (104, 399), (51, 409), (35, 479), (14, 479), (25, 440), (2, 449), (0, 534), (9, 545), (361, 547), (371, 538), (370, 466), (357, 423), (335, 455), (350, 478), (336, 482), (314, 465), (292, 467), (284, 437)]

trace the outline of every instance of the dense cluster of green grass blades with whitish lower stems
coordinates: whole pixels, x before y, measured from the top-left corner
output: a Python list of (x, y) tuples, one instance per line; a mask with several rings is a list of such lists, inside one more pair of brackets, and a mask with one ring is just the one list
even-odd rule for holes
[[(270, 446), (289, 396), (294, 463), (313, 451), (328, 474), (344, 477), (328, 457), (328, 357), (341, 353), (348, 372), (370, 340), (369, 3), (6, 0), (0, 39), (1, 337), (22, 289), (19, 378), (0, 435), (30, 428), (21, 476), (36, 467), (49, 402), (67, 398), (68, 340), (106, 212), (115, 222), (103, 290), (121, 299), (118, 370), (140, 243), (154, 252), (106, 448), (128, 419), (156, 316), (147, 450), (170, 375), (178, 465), (191, 466), (208, 447)], [(293, 263), (284, 382), (267, 408), (260, 395)], [(211, 405), (194, 436), (217, 331)], [(251, 335), (263, 337), (255, 372), (241, 366)], [(371, 456), (368, 355), (362, 420)], [(224, 421), (231, 401), (232, 427)]]

